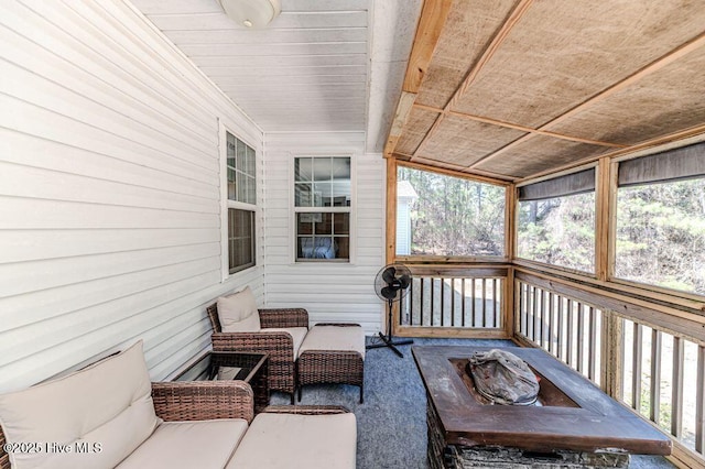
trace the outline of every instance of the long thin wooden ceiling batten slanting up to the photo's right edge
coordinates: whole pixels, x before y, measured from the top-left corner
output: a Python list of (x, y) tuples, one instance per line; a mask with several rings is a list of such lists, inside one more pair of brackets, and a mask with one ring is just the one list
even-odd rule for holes
[[(655, 61), (653, 61), (652, 63), (650, 63), (649, 65), (646, 65), (643, 67), (641, 67), (639, 70), (634, 72), (633, 74), (629, 75), (628, 77), (617, 81), (616, 84), (605, 88), (603, 91), (599, 91), (598, 94), (594, 95), (593, 97), (586, 99), (585, 101), (581, 102), (579, 105), (573, 107), (572, 109), (567, 110), (566, 112), (562, 113), (561, 116), (557, 116), (556, 118), (550, 120), (549, 122), (544, 123), (543, 126), (539, 127), (536, 130), (545, 130), (549, 127), (555, 126), (556, 123), (563, 122), (564, 120), (577, 114), (578, 112), (584, 111), (585, 109), (587, 109), (588, 107), (595, 105), (598, 101), (601, 101), (604, 99), (606, 99), (607, 97), (621, 91), (622, 89), (633, 85), (634, 83), (637, 83), (638, 80), (640, 80), (641, 78), (651, 75), (652, 73), (662, 69), (663, 67), (672, 64), (673, 62), (682, 58), (683, 56), (690, 54), (691, 52), (696, 51), (697, 48), (702, 47), (705, 45), (705, 33), (701, 33), (697, 36), (695, 36), (694, 39), (692, 39), (691, 41), (685, 42), (684, 44), (681, 44), (679, 47), (672, 50), (671, 52), (662, 55), (661, 57), (657, 58)], [(520, 137), (519, 139), (514, 140), (513, 142), (502, 146), (501, 149), (497, 150), (494, 153), (490, 153), (488, 155), (485, 155), (484, 157), (481, 157), (480, 160), (476, 161), (475, 163), (473, 163), (471, 165), (468, 166), (468, 170), (474, 170), (477, 167), (478, 164), (484, 163), (488, 160), (491, 160), (494, 157), (497, 157), (514, 148), (517, 148), (518, 145), (520, 145), (521, 143), (525, 142), (527, 140), (530, 140), (532, 138), (534, 138), (538, 133), (529, 133), (527, 135)], [(631, 151), (632, 146), (626, 146), (626, 151)], [(605, 155), (601, 155), (605, 156)]]

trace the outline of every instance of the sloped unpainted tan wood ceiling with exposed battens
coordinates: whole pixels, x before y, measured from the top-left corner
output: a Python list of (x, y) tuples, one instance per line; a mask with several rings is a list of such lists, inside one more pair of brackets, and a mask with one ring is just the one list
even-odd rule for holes
[(701, 133), (703, 0), (425, 0), (384, 154), (518, 181)]

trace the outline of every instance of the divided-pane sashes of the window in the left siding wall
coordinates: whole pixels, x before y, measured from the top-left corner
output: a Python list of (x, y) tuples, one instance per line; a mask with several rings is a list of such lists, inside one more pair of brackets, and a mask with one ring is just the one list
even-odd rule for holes
[(228, 192), (228, 272), (256, 264), (256, 153), (226, 131)]

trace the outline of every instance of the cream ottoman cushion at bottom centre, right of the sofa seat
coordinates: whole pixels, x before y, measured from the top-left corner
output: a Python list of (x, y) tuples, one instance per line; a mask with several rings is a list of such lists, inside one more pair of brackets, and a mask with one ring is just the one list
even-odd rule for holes
[(355, 414), (259, 414), (228, 469), (355, 469)]

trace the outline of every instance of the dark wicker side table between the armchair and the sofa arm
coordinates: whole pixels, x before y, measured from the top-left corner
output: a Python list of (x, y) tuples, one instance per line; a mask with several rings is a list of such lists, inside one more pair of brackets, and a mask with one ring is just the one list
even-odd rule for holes
[(254, 413), (269, 405), (268, 355), (208, 351), (174, 381), (241, 380), (252, 386)]

